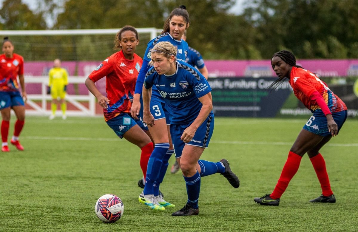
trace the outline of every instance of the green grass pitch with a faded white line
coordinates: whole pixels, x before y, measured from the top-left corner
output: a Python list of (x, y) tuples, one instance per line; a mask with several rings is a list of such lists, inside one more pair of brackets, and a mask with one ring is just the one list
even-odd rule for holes
[[(11, 118), (10, 136), (15, 117)], [(321, 194), (307, 155), (279, 207), (253, 201), (271, 193), (305, 119), (216, 118), (202, 159), (229, 160), (241, 180), (234, 189), (215, 174), (202, 178), (198, 216), (172, 217), (187, 200), (180, 173), (169, 169), (161, 185), (175, 209), (151, 211), (139, 204), (140, 149), (120, 140), (103, 118), (49, 121), (27, 117), (20, 141), (0, 153), (0, 231), (357, 231), (358, 121), (348, 119), (321, 153), (336, 204), (309, 203)], [(116, 223), (95, 215), (107, 193), (124, 202)]]

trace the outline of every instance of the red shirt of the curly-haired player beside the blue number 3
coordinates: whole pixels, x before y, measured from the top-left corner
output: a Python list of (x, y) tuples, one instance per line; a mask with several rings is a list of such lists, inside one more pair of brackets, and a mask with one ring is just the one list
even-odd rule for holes
[(91, 74), (93, 82), (106, 76), (106, 93), (110, 101), (107, 109), (103, 109), (108, 121), (120, 113), (129, 113), (133, 99), (135, 83), (143, 60), (134, 53), (134, 59), (124, 57), (122, 50), (105, 59)]

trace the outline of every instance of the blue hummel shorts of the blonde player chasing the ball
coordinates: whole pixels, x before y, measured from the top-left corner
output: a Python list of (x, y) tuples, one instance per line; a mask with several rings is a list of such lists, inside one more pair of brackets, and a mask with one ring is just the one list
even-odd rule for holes
[(182, 156), (182, 151), (185, 144), (189, 144), (192, 146), (199, 146), (202, 148), (207, 148), (213, 135), (214, 131), (214, 114), (211, 112), (207, 119), (203, 122), (202, 125), (199, 126), (198, 130), (195, 132), (195, 135), (192, 141), (185, 143), (180, 140), (183, 132), (187, 127), (190, 126), (192, 122), (181, 125), (181, 124), (171, 124), (170, 125), (170, 134), (171, 140), (174, 145), (175, 158), (179, 158)]

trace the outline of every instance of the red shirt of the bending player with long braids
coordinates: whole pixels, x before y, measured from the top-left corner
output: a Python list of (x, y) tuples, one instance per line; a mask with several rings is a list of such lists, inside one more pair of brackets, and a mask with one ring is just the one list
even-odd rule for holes
[(344, 102), (335, 95), (314, 73), (293, 67), (290, 74), (290, 85), (296, 97), (312, 112), (320, 109), (316, 101), (310, 100), (314, 91), (318, 91), (332, 113), (347, 110)]

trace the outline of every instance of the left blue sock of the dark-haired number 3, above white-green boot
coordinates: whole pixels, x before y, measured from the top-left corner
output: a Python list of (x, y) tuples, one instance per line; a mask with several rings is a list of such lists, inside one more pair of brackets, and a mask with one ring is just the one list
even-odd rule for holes
[(145, 177), (145, 185), (143, 194), (154, 194), (153, 192), (153, 184), (154, 181), (158, 178), (159, 169), (163, 163), (163, 158), (165, 156), (166, 151), (168, 151), (169, 143), (163, 144), (155, 144), (154, 150), (150, 155), (148, 160), (147, 173)]

